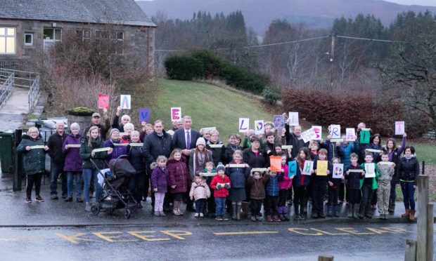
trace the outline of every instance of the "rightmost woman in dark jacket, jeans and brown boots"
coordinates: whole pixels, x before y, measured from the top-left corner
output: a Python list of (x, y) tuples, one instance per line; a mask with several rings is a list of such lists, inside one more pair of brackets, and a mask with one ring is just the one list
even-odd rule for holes
[(403, 193), (404, 208), (406, 212), (402, 217), (409, 217), (409, 220), (415, 220), (415, 189), (416, 178), (419, 175), (419, 162), (415, 156), (415, 148), (407, 146), (404, 149), (404, 156), (401, 159), (399, 167), (399, 184)]

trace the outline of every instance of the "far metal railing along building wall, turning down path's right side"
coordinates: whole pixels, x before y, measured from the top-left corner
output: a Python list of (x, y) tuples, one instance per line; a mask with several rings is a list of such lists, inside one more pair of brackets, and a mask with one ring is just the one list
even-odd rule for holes
[(14, 74), (14, 87), (29, 88), (27, 98), (29, 104), (29, 113), (32, 112), (39, 95), (39, 74), (36, 72), (26, 72), (17, 69), (0, 69), (0, 71)]

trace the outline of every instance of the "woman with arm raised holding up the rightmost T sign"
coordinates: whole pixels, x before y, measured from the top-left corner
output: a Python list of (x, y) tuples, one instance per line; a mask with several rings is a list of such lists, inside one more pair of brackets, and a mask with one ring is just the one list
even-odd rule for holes
[(389, 197), (389, 208), (388, 212), (392, 215), (395, 213), (395, 201), (397, 200), (397, 192), (395, 191), (397, 184), (399, 184), (399, 164), (401, 162), (400, 156), (406, 147), (406, 137), (407, 134), (403, 134), (402, 144), (397, 147), (397, 142), (395, 138), (389, 138), (386, 141), (383, 151), (387, 152), (387, 156), (390, 162), (395, 163), (395, 172), (390, 180), (390, 197)]

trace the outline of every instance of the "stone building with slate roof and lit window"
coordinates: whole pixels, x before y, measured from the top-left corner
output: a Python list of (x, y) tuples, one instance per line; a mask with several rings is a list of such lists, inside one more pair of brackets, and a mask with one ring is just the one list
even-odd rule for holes
[(155, 27), (134, 0), (2, 0), (0, 68), (32, 71), (38, 53), (73, 31), (84, 41), (116, 39), (153, 74)]

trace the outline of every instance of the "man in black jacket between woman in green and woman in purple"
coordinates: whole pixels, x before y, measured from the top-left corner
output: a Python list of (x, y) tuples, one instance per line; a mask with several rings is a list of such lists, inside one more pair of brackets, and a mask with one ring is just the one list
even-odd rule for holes
[(68, 137), (64, 131), (63, 121), (56, 122), (56, 133), (49, 137), (47, 146), (50, 156), (50, 197), (58, 199), (58, 177), (62, 179), (62, 198), (66, 199), (68, 194), (67, 173), (63, 171), (65, 155), (62, 153), (63, 142)]

